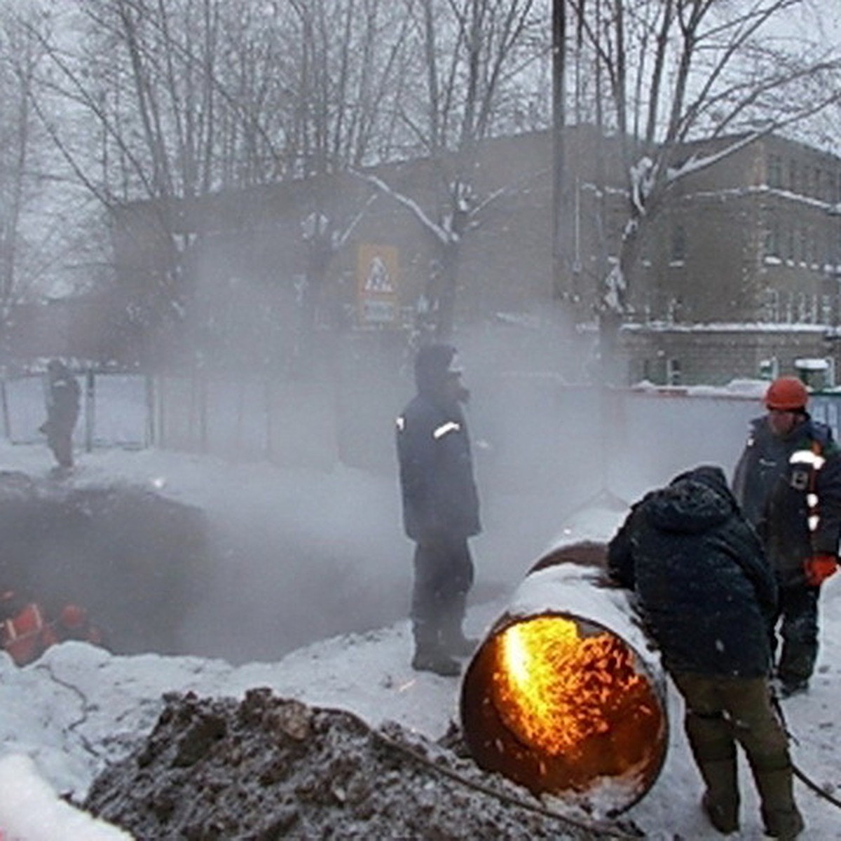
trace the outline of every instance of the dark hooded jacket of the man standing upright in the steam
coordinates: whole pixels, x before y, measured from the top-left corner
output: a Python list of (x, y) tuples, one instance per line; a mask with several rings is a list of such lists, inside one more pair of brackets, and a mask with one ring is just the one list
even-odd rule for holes
[[(479, 495), (467, 424), (448, 399), (452, 348), (434, 346), (415, 369), (418, 394), (397, 419), (397, 456), (406, 534), (419, 543), (479, 534)], [(428, 362), (429, 364), (426, 364)]]

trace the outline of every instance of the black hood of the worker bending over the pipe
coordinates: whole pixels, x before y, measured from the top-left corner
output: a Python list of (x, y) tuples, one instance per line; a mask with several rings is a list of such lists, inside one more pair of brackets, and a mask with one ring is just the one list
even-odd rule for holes
[(705, 532), (727, 520), (735, 500), (722, 468), (704, 465), (680, 473), (667, 488), (648, 497), (649, 521), (664, 532)]

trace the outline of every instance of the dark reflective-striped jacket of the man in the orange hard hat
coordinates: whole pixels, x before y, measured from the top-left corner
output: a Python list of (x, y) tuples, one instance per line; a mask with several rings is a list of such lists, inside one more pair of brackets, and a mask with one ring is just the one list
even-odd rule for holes
[(828, 426), (807, 415), (780, 437), (764, 417), (752, 421), (733, 493), (781, 584), (801, 583), (803, 562), (812, 554), (838, 553), (841, 454)]

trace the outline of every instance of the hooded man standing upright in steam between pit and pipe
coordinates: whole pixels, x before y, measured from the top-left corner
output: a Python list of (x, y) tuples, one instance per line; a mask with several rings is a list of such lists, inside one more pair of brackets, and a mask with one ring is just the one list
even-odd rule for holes
[(403, 521), (416, 544), (412, 667), (445, 676), (458, 675), (454, 658), (475, 648), (462, 623), (473, 584), (468, 538), (481, 530), (462, 411), (468, 390), (455, 358), (449, 345), (421, 347), (415, 357), (417, 394), (397, 419)]

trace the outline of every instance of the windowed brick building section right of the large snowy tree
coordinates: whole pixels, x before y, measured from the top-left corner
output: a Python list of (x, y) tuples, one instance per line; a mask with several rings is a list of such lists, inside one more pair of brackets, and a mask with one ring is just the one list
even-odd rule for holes
[(839, 202), (841, 159), (775, 136), (680, 182), (623, 331), (629, 378), (715, 384), (824, 360), (831, 380)]

